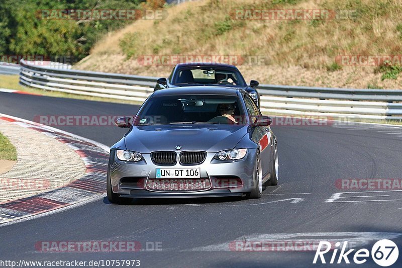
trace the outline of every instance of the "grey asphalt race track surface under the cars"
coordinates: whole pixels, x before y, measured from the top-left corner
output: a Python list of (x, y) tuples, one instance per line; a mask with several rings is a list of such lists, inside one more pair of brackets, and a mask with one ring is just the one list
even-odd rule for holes
[[(28, 120), (37, 115), (128, 115), (138, 108), (0, 93), (0, 113)], [(125, 133), (124, 129), (113, 126), (57, 128), (109, 146)], [(364, 202), (325, 202), (335, 193), (348, 192), (336, 188), (337, 179), (401, 178), (402, 128), (329, 125), (272, 126), (272, 130), (278, 138), (279, 185), (268, 187), (261, 199), (135, 200), (129, 205), (112, 205), (105, 198), (53, 215), (0, 226), (0, 258), (140, 259), (144, 267), (326, 267), (334, 265), (312, 264), (315, 252), (238, 252), (207, 246), (228, 244), (256, 234), (306, 233), (303, 237), (309, 240), (324, 239), (311, 234), (317, 232), (402, 233), (402, 192), (386, 192), (389, 197), (378, 198), (356, 198), (361, 196), (356, 193), (351, 194), (355, 198), (343, 199)], [(367, 201), (376, 199), (396, 201)], [(135, 240), (142, 245), (158, 241), (163, 250), (46, 253), (35, 249), (38, 241), (88, 240)], [(402, 251), (401, 236), (391, 240)], [(363, 247), (370, 250), (373, 242)], [(399, 256), (393, 266), (400, 267), (401, 260)], [(365, 264), (350, 266), (380, 267), (371, 258)]]

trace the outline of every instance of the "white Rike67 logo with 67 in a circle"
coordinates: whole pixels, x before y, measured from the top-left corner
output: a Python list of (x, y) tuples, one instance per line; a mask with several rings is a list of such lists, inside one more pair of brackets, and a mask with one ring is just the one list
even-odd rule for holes
[[(361, 248), (354, 252), (354, 248), (347, 250), (348, 241), (344, 241), (341, 251), (339, 253), (338, 259), (338, 248), (341, 245), (340, 242), (335, 243), (335, 248), (333, 249), (331, 260), (329, 263), (350, 263), (349, 258), (353, 258), (354, 263), (363, 264), (370, 257), (370, 251), (366, 248)], [(328, 253), (331, 250), (331, 243), (327, 241), (320, 241), (318, 244), (318, 248), (316, 251), (316, 255), (314, 256), (313, 263), (317, 263), (318, 258), (320, 257), (321, 263), (327, 263), (324, 257), (324, 254)], [(347, 251), (346, 251), (347, 250)], [(396, 262), (398, 259), (399, 250), (394, 242), (388, 239), (382, 239), (377, 241), (373, 247), (371, 248), (371, 258), (380, 266), (390, 266)], [(352, 257), (353, 256), (353, 257)], [(337, 259), (337, 261), (336, 261)], [(336, 262), (335, 262), (336, 261)], [(320, 262), (318, 262), (320, 263)]]

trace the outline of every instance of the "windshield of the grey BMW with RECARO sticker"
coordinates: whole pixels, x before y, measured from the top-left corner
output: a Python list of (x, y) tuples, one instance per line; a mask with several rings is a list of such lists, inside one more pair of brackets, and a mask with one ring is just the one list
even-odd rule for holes
[(134, 125), (243, 125), (244, 118), (244, 111), (236, 96), (162, 96), (151, 98), (144, 104)]

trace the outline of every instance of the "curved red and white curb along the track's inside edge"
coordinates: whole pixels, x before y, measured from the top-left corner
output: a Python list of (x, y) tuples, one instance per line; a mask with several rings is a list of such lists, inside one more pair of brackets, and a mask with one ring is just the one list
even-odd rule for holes
[[(65, 143), (82, 158), (86, 167), (82, 177), (61, 188), (0, 204), (0, 226), (105, 196), (108, 146), (25, 119), (4, 114), (0, 114), (0, 119), (40, 131)], [(57, 166), (54, 170), (57, 172)]]

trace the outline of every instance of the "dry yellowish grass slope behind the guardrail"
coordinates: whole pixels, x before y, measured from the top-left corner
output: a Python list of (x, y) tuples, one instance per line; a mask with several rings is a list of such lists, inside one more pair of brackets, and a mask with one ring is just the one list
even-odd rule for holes
[[(291, 4), (274, 4), (274, 3)], [(294, 4), (293, 4), (294, 3)], [(355, 10), (343, 20), (233, 20), (245, 9)], [(106, 36), (77, 68), (166, 76), (172, 66), (142, 66), (142, 55), (258, 55), (263, 65), (240, 65), (247, 80), (334, 87), (400, 88), (370, 66), (328, 70), (338, 55), (402, 54), (399, 1), (209, 0), (167, 8), (163, 21), (137, 21)]]

